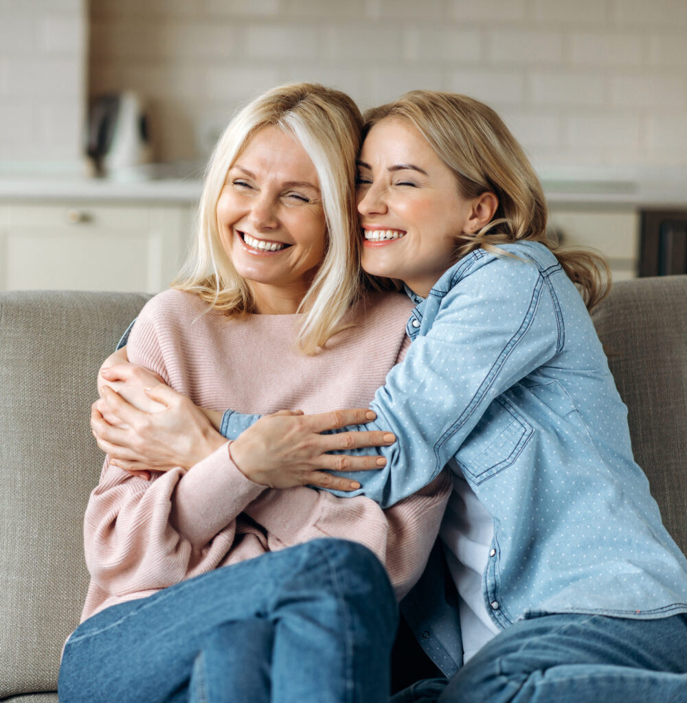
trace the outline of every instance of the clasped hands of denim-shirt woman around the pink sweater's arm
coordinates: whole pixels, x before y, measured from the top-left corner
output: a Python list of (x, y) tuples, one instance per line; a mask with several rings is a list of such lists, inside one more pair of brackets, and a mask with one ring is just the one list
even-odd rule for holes
[(226, 443), (200, 408), (147, 369), (116, 364), (102, 375), (108, 382), (91, 409), (91, 429), (113, 465), (131, 472), (189, 469)]

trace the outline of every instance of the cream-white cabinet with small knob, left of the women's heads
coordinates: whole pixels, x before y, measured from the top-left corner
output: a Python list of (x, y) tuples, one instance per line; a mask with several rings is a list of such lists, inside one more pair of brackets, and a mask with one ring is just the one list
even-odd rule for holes
[(0, 290), (164, 290), (194, 212), (179, 203), (0, 202)]

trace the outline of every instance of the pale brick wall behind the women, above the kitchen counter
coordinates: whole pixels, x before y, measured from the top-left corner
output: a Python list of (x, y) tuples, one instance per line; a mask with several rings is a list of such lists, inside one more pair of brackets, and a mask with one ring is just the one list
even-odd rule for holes
[(687, 0), (0, 0), (0, 162), (77, 152), (86, 4), (89, 92), (139, 91), (161, 160), (315, 80), (469, 93), (539, 165), (687, 165)]

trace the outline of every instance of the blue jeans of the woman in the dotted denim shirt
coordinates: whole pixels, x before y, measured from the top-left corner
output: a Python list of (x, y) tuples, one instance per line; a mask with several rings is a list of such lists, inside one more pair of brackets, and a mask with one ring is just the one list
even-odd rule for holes
[(419, 682), (392, 701), (681, 703), (687, 701), (687, 616), (560, 614), (519, 621), (450, 681)]

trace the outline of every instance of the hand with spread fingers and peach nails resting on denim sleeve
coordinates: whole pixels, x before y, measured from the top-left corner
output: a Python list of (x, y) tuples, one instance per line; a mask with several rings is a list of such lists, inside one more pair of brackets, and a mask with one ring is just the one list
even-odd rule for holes
[(357, 481), (332, 476), (323, 469), (362, 471), (379, 469), (386, 464), (380, 456), (328, 454), (336, 449), (362, 446), (388, 446), (396, 441), (390, 432), (341, 432), (320, 434), (346, 425), (374, 420), (375, 413), (365, 408), (338, 410), (319, 415), (301, 411), (279, 411), (265, 415), (244, 430), (229, 446), (233, 463), (252, 481), (271, 488), (319, 486), (354, 491)]

